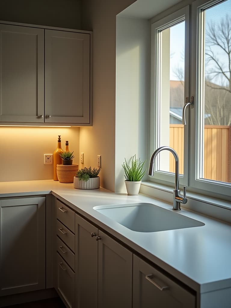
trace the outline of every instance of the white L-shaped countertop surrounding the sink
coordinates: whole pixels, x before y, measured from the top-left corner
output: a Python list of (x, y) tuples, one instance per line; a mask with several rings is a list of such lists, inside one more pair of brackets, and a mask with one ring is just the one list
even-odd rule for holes
[(52, 193), (102, 229), (124, 242), (197, 292), (231, 287), (231, 225), (182, 208), (204, 226), (160, 232), (132, 231), (93, 209), (94, 206), (147, 202), (172, 211), (172, 204), (139, 194), (127, 196), (106, 189), (80, 190), (53, 180), (0, 182), (0, 197)]

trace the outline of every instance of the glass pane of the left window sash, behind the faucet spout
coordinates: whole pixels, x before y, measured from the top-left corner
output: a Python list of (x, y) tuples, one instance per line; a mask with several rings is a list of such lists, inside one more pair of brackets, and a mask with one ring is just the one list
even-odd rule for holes
[[(159, 32), (158, 74), (158, 147), (170, 146), (180, 161), (180, 174), (184, 164), (184, 29), (179, 22)], [(158, 170), (175, 172), (175, 160), (168, 151), (160, 153)]]

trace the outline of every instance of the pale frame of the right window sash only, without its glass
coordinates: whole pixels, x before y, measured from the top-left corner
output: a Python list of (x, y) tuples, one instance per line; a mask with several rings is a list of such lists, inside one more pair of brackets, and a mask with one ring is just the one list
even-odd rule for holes
[[(203, 139), (203, 127), (201, 124), (201, 110), (203, 108), (203, 102), (201, 102), (201, 87), (202, 87), (202, 68), (201, 59), (203, 57), (202, 46), (204, 29), (202, 25), (203, 10), (224, 2), (222, 0), (197, 0), (192, 4), (192, 60), (191, 60), (191, 95), (194, 96), (195, 111), (191, 114), (191, 125), (189, 134), (192, 136), (192, 132), (196, 132), (191, 141), (191, 149), (195, 149), (195, 155), (190, 158), (190, 170), (195, 170), (190, 173), (189, 184), (190, 187), (196, 189), (202, 189), (213, 193), (219, 193), (226, 196), (231, 195), (231, 183), (219, 182), (215, 180), (200, 178), (200, 165), (202, 164), (203, 149), (200, 150), (201, 140)], [(191, 151), (192, 152), (192, 151)]]

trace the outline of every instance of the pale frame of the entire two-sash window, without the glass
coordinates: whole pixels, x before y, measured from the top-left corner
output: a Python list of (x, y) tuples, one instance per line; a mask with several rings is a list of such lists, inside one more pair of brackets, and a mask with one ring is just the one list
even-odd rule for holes
[[(157, 104), (158, 92), (156, 72), (158, 70), (158, 42), (156, 39), (156, 31), (162, 30), (171, 24), (174, 20), (185, 16), (185, 73), (184, 73), (184, 96), (194, 97), (193, 108), (186, 109), (186, 126), (184, 127), (184, 176), (180, 176), (180, 184), (186, 185), (189, 191), (201, 193), (204, 191), (208, 195), (209, 192), (219, 194), (224, 197), (231, 196), (231, 183), (219, 182), (209, 179), (200, 178), (201, 160), (201, 46), (202, 46), (202, 11), (206, 8), (222, 3), (224, 0), (196, 0), (190, 6), (177, 10), (169, 14), (167, 17), (160, 19), (151, 24), (151, 52), (150, 52), (150, 142), (149, 154), (157, 148), (156, 133), (157, 127)], [(191, 8), (191, 16), (189, 16)], [(191, 18), (190, 18), (191, 17)], [(190, 19), (189, 19), (190, 18)], [(204, 47), (203, 47), (204, 48)], [(154, 86), (153, 86), (154, 85)], [(202, 104), (201, 104), (202, 103)], [(168, 172), (156, 172), (157, 164), (155, 164), (155, 172), (153, 176), (149, 176), (149, 181), (157, 182), (165, 185), (174, 185), (175, 174)]]

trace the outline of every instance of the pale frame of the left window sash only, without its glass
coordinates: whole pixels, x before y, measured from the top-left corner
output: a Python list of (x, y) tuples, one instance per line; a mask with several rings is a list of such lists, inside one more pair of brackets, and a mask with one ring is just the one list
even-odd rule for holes
[[(176, 12), (168, 15), (165, 18), (160, 19), (157, 22), (151, 24), (151, 58), (150, 58), (150, 142), (149, 142), (149, 154), (157, 148), (158, 145), (158, 110), (159, 106), (159, 83), (158, 78), (160, 75), (159, 68), (159, 52), (160, 44), (158, 41), (160, 30), (164, 30), (171, 25), (177, 24), (180, 21), (185, 21), (185, 48), (184, 48), (184, 96), (189, 96), (189, 6), (177, 10)], [(185, 99), (185, 98), (184, 98)], [(156, 104), (156, 102), (158, 102)], [(189, 122), (188, 114), (186, 114), (186, 121)], [(157, 132), (157, 134), (156, 134)], [(186, 157), (188, 157), (188, 126), (184, 127), (184, 175), (180, 175), (180, 184), (188, 185), (188, 163)], [(170, 154), (172, 155), (172, 154)], [(153, 176), (149, 176), (150, 181), (161, 182), (165, 184), (175, 183), (175, 174), (164, 171), (157, 171), (157, 160), (155, 161), (155, 169)]]

